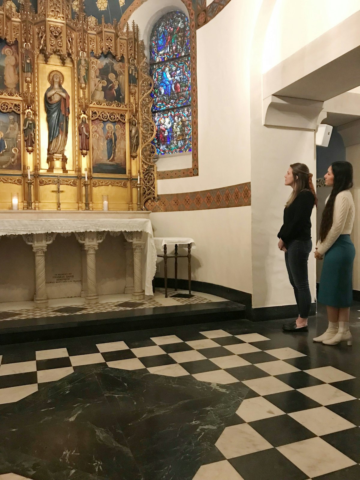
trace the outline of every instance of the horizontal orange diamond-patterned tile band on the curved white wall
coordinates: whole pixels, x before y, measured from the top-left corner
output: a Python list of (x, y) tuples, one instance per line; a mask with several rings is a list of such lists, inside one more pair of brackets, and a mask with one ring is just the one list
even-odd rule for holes
[(200, 192), (168, 193), (145, 204), (152, 212), (184, 212), (251, 205), (251, 183)]

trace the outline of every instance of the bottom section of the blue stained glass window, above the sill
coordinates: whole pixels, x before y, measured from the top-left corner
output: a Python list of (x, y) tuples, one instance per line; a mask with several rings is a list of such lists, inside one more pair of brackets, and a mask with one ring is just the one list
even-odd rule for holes
[(154, 144), (157, 155), (191, 152), (191, 108), (158, 111)]

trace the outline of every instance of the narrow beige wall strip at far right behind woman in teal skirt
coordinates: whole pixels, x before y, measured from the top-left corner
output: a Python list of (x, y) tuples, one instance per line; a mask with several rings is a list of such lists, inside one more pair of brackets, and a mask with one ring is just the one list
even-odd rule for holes
[(354, 187), (351, 190), (355, 203), (355, 221), (351, 234), (351, 240), (353, 241), (356, 249), (353, 288), (354, 290), (360, 290), (360, 144), (347, 147), (346, 159), (352, 164), (354, 171)]

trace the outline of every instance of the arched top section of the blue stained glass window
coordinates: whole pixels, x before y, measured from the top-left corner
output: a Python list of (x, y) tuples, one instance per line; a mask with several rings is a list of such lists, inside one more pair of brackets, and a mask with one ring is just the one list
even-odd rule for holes
[(182, 12), (169, 12), (155, 24), (150, 41), (150, 63), (190, 55), (190, 26)]

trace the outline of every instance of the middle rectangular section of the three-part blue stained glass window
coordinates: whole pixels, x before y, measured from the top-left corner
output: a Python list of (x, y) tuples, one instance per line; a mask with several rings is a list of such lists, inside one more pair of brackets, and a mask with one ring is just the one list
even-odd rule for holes
[(153, 110), (184, 107), (191, 103), (191, 72), (188, 60), (153, 65)]

